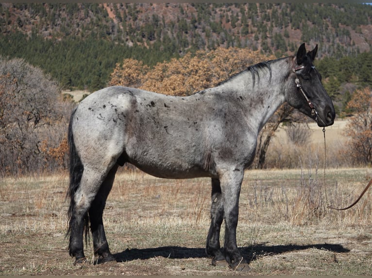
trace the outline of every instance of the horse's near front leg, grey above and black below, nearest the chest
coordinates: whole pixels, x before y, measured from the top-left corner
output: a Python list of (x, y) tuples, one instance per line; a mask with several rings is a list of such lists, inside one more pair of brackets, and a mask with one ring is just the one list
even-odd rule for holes
[(237, 218), (239, 214), (239, 195), (244, 170), (234, 169), (225, 172), (220, 178), (223, 196), (223, 218), (225, 220), (224, 252), (229, 267), (234, 270), (248, 271), (247, 261), (237, 248)]

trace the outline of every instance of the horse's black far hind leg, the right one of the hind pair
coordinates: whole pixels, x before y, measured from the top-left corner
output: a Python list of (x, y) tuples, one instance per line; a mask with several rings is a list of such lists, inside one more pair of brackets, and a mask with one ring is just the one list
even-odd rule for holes
[(114, 183), (115, 173), (118, 170), (118, 165), (116, 164), (107, 174), (105, 180), (103, 181), (96, 198), (93, 200), (89, 209), (89, 220), (90, 229), (93, 235), (93, 247), (94, 253), (101, 256), (100, 263), (114, 261), (115, 257), (111, 254), (108, 247), (106, 235), (103, 228), (103, 209), (106, 204), (108, 194), (111, 191), (112, 185)]

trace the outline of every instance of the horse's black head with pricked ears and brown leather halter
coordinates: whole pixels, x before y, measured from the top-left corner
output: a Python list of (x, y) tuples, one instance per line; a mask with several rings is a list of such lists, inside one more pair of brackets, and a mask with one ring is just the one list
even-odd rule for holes
[(288, 90), (286, 99), (289, 105), (316, 120), (319, 126), (328, 126), (333, 124), (336, 112), (313, 64), (317, 50), (318, 45), (307, 53), (305, 44), (299, 47), (290, 74), (295, 89)]

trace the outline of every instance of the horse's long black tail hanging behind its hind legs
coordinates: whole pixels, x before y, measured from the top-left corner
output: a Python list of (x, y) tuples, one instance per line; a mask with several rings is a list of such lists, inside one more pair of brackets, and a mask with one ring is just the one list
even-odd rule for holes
[[(74, 136), (72, 134), (72, 120), (74, 118), (76, 108), (71, 113), (70, 122), (68, 124), (68, 146), (69, 146), (69, 174), (70, 174), (70, 185), (68, 186), (66, 198), (70, 198), (70, 205), (68, 208), (68, 231), (67, 234), (71, 232), (71, 217), (74, 217), (75, 209), (75, 193), (80, 186), (80, 181), (82, 179), (84, 166), (80, 160), (80, 156), (76, 151)], [(89, 216), (88, 213), (84, 216), (84, 229), (85, 229), (85, 241), (89, 231)]]

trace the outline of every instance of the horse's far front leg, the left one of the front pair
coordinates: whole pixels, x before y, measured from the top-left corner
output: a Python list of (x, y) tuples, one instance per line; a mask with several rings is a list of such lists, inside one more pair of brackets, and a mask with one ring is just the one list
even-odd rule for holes
[(220, 250), (220, 228), (223, 221), (223, 203), (219, 179), (212, 179), (211, 226), (209, 228), (205, 252), (212, 256), (212, 264), (225, 261)]

